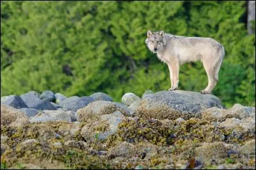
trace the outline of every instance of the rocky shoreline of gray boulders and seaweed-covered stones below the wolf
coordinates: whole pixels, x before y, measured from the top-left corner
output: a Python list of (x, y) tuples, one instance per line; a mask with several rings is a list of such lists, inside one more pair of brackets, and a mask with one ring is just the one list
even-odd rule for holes
[(255, 107), (175, 90), (1, 97), (1, 169), (254, 169)]

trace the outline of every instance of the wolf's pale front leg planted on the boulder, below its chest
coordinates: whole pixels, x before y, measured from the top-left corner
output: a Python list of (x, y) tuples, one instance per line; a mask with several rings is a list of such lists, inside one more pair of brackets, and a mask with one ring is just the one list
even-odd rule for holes
[(175, 62), (175, 63), (168, 64), (168, 68), (170, 71), (170, 80), (172, 83), (172, 86), (168, 90), (173, 91), (178, 88), (178, 84), (179, 84), (179, 63)]

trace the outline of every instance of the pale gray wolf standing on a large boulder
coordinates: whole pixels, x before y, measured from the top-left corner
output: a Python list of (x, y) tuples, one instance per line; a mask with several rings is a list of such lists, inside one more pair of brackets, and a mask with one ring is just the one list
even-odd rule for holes
[(218, 81), (218, 73), (225, 55), (224, 47), (212, 38), (185, 37), (165, 34), (164, 31), (148, 30), (145, 40), (148, 49), (157, 54), (158, 59), (168, 65), (170, 71), (170, 91), (179, 83), (179, 66), (185, 62), (200, 60), (208, 77), (208, 85), (202, 94), (210, 94)]

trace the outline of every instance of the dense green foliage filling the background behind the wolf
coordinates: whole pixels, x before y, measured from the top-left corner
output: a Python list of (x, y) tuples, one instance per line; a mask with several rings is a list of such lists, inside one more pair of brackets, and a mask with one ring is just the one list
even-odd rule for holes
[[(255, 34), (245, 23), (245, 1), (4, 1), (1, 96), (49, 89), (120, 101), (125, 92), (167, 90), (168, 67), (145, 45), (148, 29), (164, 29), (225, 46), (212, 94), (226, 106), (255, 106)], [(180, 67), (179, 89), (206, 85), (200, 62)]]

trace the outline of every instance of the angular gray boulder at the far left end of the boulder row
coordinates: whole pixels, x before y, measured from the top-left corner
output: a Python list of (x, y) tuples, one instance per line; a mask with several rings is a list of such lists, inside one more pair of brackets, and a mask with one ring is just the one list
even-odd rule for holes
[(1, 97), (1, 104), (12, 106), (13, 108), (28, 108), (27, 104), (20, 98), (20, 96), (4, 96)]

